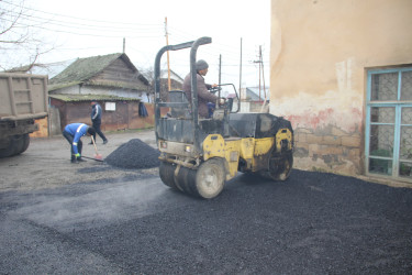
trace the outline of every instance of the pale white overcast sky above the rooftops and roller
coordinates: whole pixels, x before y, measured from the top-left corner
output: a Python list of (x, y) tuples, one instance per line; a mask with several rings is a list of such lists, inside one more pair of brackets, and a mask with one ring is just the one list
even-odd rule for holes
[[(20, 2), (3, 0), (0, 8), (4, 11)], [(212, 37), (212, 44), (198, 51), (198, 58), (210, 65), (208, 82), (218, 82), (222, 55), (222, 82), (238, 87), (242, 38), (243, 85), (259, 84), (259, 46), (265, 81), (269, 84), (270, 0), (26, 0), (24, 7), (38, 37), (55, 47), (42, 57), (42, 63), (121, 53), (124, 37), (125, 53), (132, 63), (138, 69), (148, 69), (166, 45), (167, 18), (170, 45)], [(189, 72), (189, 51), (171, 52), (170, 68), (185, 77)], [(55, 73), (51, 70), (49, 75)]]

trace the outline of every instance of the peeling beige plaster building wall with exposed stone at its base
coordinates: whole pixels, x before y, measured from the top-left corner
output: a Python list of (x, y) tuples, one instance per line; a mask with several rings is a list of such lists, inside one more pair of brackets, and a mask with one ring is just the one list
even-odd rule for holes
[(364, 174), (369, 68), (412, 64), (412, 0), (272, 0), (270, 113), (294, 167)]

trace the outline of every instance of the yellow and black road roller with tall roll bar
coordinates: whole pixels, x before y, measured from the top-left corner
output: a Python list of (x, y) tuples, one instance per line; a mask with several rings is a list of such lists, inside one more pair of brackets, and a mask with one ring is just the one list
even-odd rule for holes
[[(293, 130), (288, 120), (270, 113), (238, 112), (235, 89), (237, 108), (233, 106), (233, 98), (220, 106), (219, 92), (213, 116), (199, 118), (196, 56), (199, 46), (211, 42), (211, 37), (200, 37), (167, 45), (156, 55), (155, 132), (162, 182), (182, 193), (211, 199), (237, 172), (286, 180), (293, 165)], [(164, 99), (160, 97), (162, 56), (167, 51), (182, 48), (190, 48), (191, 101), (181, 90), (168, 91)], [(220, 88), (223, 86), (227, 85)]]

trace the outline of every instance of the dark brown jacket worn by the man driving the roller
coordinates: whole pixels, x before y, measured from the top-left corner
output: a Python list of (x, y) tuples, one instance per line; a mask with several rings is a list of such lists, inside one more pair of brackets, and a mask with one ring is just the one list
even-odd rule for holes
[[(204, 78), (201, 75), (197, 74), (196, 76), (197, 76), (196, 80), (198, 84), (198, 111), (201, 117), (208, 118), (209, 117), (208, 102), (215, 103), (218, 97), (208, 90), (208, 86), (210, 87), (210, 85), (207, 85), (204, 82)], [(188, 74), (185, 77), (183, 91), (186, 96), (188, 97), (189, 102), (191, 103), (190, 74)]]

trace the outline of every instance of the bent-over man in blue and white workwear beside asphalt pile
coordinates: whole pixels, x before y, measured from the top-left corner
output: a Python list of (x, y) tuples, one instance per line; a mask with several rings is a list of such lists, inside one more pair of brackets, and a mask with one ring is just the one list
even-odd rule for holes
[(81, 158), (81, 136), (93, 136), (94, 134), (94, 129), (85, 123), (71, 123), (65, 127), (65, 130), (63, 131), (63, 136), (65, 136), (68, 143), (70, 144), (71, 163), (85, 162), (85, 160)]

